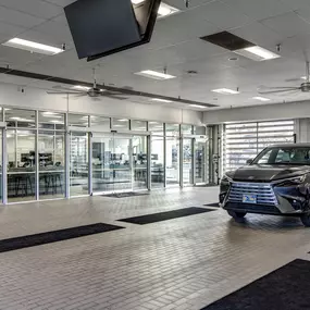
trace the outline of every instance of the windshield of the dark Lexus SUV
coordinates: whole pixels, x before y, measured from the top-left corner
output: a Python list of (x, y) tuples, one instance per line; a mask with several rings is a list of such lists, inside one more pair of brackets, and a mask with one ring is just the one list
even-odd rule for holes
[(253, 160), (252, 164), (310, 164), (310, 146), (266, 148)]

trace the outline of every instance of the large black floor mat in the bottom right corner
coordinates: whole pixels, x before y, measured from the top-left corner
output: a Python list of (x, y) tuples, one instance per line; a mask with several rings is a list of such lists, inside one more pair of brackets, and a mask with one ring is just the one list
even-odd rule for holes
[(202, 310), (310, 309), (309, 278), (310, 261), (298, 259)]

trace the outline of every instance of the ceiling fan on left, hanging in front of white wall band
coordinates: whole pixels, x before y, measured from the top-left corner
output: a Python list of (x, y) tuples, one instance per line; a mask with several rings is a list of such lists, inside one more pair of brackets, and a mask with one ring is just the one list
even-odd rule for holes
[(54, 91), (47, 91), (48, 95), (75, 95), (75, 97), (83, 97), (88, 96), (95, 100), (100, 100), (100, 97), (108, 97), (111, 99), (117, 99), (117, 100), (125, 100), (128, 98), (122, 97), (122, 92), (116, 91), (110, 91), (107, 89), (102, 89), (97, 87), (97, 80), (96, 80), (96, 72), (94, 69), (94, 84), (92, 87), (88, 86), (74, 86), (72, 88), (63, 87), (63, 86), (55, 86), (53, 87)]

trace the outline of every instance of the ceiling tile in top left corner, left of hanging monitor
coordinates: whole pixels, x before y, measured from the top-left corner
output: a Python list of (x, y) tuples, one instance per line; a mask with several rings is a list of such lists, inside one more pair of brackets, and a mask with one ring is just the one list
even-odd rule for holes
[(41, 0), (0, 0), (0, 5), (13, 9), (41, 18), (51, 18), (63, 13), (61, 7)]

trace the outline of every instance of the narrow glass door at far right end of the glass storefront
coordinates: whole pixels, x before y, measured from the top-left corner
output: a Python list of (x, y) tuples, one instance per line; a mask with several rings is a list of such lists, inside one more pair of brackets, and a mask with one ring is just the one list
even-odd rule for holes
[(195, 184), (209, 183), (208, 140), (195, 139)]

